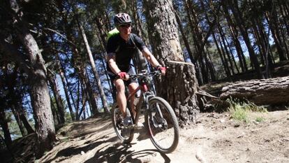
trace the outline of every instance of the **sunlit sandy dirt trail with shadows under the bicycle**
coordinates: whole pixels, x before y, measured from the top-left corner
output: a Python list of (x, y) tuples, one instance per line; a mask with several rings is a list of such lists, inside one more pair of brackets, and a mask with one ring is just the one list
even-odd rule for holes
[(180, 130), (179, 146), (168, 155), (158, 153), (144, 129), (124, 145), (110, 118), (74, 122), (61, 129), (66, 136), (59, 134), (61, 141), (38, 162), (289, 162), (289, 111), (250, 117), (244, 123), (228, 113), (201, 113), (197, 124)]

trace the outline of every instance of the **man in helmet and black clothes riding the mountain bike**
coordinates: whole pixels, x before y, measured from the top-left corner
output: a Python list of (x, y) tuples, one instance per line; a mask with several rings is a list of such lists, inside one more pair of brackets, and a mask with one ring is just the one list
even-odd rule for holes
[[(154, 55), (144, 45), (142, 39), (131, 33), (131, 17), (127, 13), (115, 15), (114, 25), (119, 30), (119, 33), (108, 38), (108, 72), (117, 90), (117, 104), (123, 115), (124, 125), (131, 125), (131, 117), (126, 116), (125, 85), (128, 86), (130, 92), (133, 92), (138, 86), (136, 81), (129, 79), (127, 75), (127, 73), (133, 72), (131, 59), (136, 54), (137, 48), (152, 66), (161, 71), (162, 75), (165, 75), (165, 67), (158, 63)], [(133, 115), (135, 115), (133, 101), (134, 97), (131, 99), (131, 108)]]

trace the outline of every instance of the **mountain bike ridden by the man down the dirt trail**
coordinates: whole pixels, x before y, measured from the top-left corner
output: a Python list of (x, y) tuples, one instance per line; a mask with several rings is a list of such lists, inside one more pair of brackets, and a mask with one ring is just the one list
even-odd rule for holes
[(140, 90), (140, 99), (135, 106), (135, 117), (131, 116), (133, 125), (125, 126), (121, 122), (122, 116), (117, 103), (112, 106), (112, 123), (117, 136), (123, 143), (131, 143), (141, 110), (144, 111), (144, 127), (147, 129), (149, 138), (154, 146), (161, 153), (172, 153), (179, 143), (179, 125), (175, 112), (168, 101), (161, 97), (157, 97), (153, 91), (149, 89), (154, 76), (161, 75), (160, 71), (142, 71), (142, 73), (131, 74), (129, 78), (139, 80), (139, 86), (131, 94), (128, 94), (126, 113), (133, 115), (130, 99)]

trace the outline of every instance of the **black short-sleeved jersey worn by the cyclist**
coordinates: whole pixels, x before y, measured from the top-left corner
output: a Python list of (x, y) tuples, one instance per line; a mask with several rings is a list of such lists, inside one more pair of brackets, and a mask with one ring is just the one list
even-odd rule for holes
[(142, 51), (145, 47), (144, 41), (135, 34), (131, 34), (128, 41), (121, 38), (120, 34), (115, 34), (108, 39), (107, 52), (108, 55), (115, 55), (115, 62), (121, 71), (128, 72), (137, 48)]

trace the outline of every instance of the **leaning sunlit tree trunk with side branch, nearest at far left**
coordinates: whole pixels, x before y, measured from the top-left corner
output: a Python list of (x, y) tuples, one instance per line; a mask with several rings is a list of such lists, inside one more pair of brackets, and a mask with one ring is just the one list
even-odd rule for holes
[[(34, 37), (30, 34), (27, 23), (24, 22), (22, 10), (20, 10), (17, 1), (10, 0), (10, 8), (14, 16), (14, 31), (17, 32), (18, 39), (22, 43), (24, 50), (26, 50), (27, 61), (23, 59), (23, 55), (17, 51), (17, 48), (14, 48), (2, 38), (0, 38), (0, 44), (2, 50), (6, 52), (6, 55), (13, 58), (13, 62), (19, 61), (18, 64), (24, 68), (24, 71), (28, 74), (31, 105), (34, 109), (37, 134), (35, 152), (36, 157), (40, 157), (45, 150), (52, 149), (53, 142), (55, 141), (54, 121), (50, 108), (50, 96), (45, 74), (46, 69), (38, 45)], [(28, 67), (31, 67), (31, 69)]]

